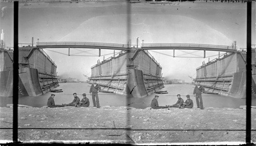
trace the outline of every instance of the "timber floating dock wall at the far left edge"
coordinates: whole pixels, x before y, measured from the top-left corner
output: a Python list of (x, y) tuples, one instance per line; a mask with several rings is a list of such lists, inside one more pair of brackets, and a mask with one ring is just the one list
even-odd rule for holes
[[(38, 96), (56, 88), (56, 64), (40, 48), (23, 46), (19, 51), (19, 94)], [(12, 96), (13, 51), (0, 48), (0, 96)]]

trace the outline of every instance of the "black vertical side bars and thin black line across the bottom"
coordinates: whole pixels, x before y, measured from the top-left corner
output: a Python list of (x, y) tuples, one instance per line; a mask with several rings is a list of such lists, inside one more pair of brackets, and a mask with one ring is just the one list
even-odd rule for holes
[[(255, 1), (253, 1), (255, 2)], [(13, 97), (18, 97), (18, 1), (14, 1), (14, 52), (13, 52)], [(127, 12), (130, 12), (131, 6), (127, 6), (128, 10)], [(126, 130), (129, 131), (246, 131), (246, 137), (244, 145), (253, 145), (251, 143), (251, 83), (252, 83), (252, 67), (251, 67), (251, 14), (252, 11), (252, 1), (247, 1), (247, 55), (246, 55), (246, 129), (245, 130), (239, 130), (239, 129), (195, 129), (195, 130), (178, 130), (178, 129), (126, 129), (126, 128), (18, 128), (18, 98), (13, 98), (13, 123), (12, 128), (0, 128), (0, 129), (12, 129), (12, 143), (2, 143), (3, 145), (10, 145), (10, 144), (18, 144), (21, 143), (18, 141), (18, 130), (29, 130), (29, 129), (68, 129), (68, 130), (75, 130), (75, 129), (83, 129), (83, 130)], [(131, 18), (127, 18), (127, 20), (130, 20)], [(131, 28), (127, 27), (127, 34), (130, 34)], [(129, 112), (127, 113), (127, 116), (129, 116)], [(129, 122), (129, 121), (127, 121)], [(24, 144), (24, 143), (23, 143)], [(28, 143), (29, 144), (29, 143)], [(49, 143), (46, 143), (49, 144)], [(58, 144), (58, 143), (55, 143)], [(63, 143), (61, 143), (63, 144)], [(132, 144), (132, 143), (131, 143)], [(207, 143), (206, 143), (207, 144)], [(106, 144), (108, 145), (108, 144)], [(127, 144), (124, 144), (127, 145)]]

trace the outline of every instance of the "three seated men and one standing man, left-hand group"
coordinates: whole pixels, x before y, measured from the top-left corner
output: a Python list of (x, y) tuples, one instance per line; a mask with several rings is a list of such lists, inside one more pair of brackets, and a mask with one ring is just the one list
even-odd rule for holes
[[(90, 88), (90, 94), (92, 95), (92, 99), (93, 99), (93, 106), (100, 108), (99, 106), (99, 96), (98, 96), (98, 92), (100, 91), (100, 86), (99, 84), (96, 83), (96, 81), (93, 81), (93, 84)], [(55, 105), (54, 103), (54, 97), (55, 94), (51, 94), (50, 98), (48, 99), (47, 102), (47, 106), (50, 108), (55, 108), (55, 107), (64, 107), (64, 106), (75, 106), (75, 107), (88, 107), (90, 106), (90, 101), (86, 96), (86, 93), (83, 93), (83, 99), (80, 101), (80, 99), (78, 98), (76, 93), (73, 93), (74, 96), (74, 100), (69, 103), (69, 104), (62, 104), (62, 105)], [(96, 100), (95, 100), (96, 98)]]

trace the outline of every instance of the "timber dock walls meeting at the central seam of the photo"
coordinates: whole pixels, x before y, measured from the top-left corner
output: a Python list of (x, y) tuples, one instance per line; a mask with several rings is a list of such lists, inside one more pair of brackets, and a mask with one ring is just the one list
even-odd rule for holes
[(92, 66), (90, 83), (96, 80), (104, 92), (142, 98), (164, 87), (161, 70), (150, 53), (131, 48)]

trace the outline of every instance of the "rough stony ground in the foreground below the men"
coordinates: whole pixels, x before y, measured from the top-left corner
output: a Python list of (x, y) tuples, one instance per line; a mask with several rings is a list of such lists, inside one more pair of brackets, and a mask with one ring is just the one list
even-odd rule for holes
[[(251, 127), (255, 130), (256, 109), (251, 111)], [(12, 116), (10, 116), (12, 108), (0, 108), (0, 113), (1, 127), (12, 128)], [(139, 144), (245, 141), (245, 131), (230, 130), (246, 129), (246, 109), (154, 110), (104, 106), (100, 109), (92, 107), (18, 108), (18, 113), (18, 128), (21, 128), (18, 131), (18, 138), (22, 142), (71, 142), (67, 140), (72, 140), (73, 142)], [(11, 130), (0, 131), (1, 140), (12, 140)], [(251, 132), (251, 139), (255, 143), (256, 131)]]

